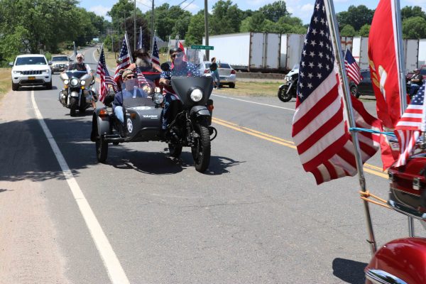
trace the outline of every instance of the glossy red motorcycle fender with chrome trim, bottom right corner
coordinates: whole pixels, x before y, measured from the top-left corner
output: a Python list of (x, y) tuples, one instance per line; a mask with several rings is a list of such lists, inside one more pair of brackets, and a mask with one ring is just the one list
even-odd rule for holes
[(376, 252), (364, 272), (366, 283), (426, 283), (426, 239), (388, 242)]

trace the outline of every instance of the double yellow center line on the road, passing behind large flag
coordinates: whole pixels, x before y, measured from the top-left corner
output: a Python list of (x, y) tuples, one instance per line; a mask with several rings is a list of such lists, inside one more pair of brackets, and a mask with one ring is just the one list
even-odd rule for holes
[[(225, 121), (223, 119), (217, 119), (216, 117), (212, 118), (212, 121), (216, 124), (228, 127), (229, 129), (234, 129), (236, 131), (242, 132), (242, 133), (246, 133), (249, 134), (251, 136), (256, 136), (258, 138), (264, 139), (266, 141), (271, 141), (273, 143), (277, 143), (283, 146), (287, 146), (293, 149), (297, 149), (295, 146), (295, 143), (293, 143), (293, 141), (288, 141), (285, 140), (283, 138), (279, 138), (279, 137), (275, 137), (260, 131), (256, 131), (253, 129), (249, 129), (247, 127), (244, 126), (239, 126), (238, 124), (234, 124), (232, 122), (229, 121)], [(377, 175), (378, 177), (381, 178), (386, 178), (388, 179), (388, 173), (387, 172), (383, 172), (382, 168), (377, 167), (376, 165), (370, 165), (368, 163), (364, 163), (364, 172), (366, 173), (371, 173), (372, 175)]]

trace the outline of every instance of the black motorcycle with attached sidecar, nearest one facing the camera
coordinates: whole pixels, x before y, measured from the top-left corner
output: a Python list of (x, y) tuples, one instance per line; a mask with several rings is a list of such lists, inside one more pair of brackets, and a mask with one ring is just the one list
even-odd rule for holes
[(165, 130), (161, 127), (163, 94), (146, 79), (142, 83), (138, 79), (127, 80), (123, 84), (124, 91), (115, 94), (123, 99), (124, 125), (108, 107), (94, 111), (91, 140), (95, 142), (99, 162), (107, 160), (109, 143), (163, 141), (168, 143), (169, 155), (174, 158), (180, 157), (184, 146), (190, 147), (195, 169), (200, 173), (207, 170), (210, 142), (217, 136), (217, 130), (211, 126), (212, 78), (173, 77), (171, 86), (180, 100), (170, 105), (173, 119)]

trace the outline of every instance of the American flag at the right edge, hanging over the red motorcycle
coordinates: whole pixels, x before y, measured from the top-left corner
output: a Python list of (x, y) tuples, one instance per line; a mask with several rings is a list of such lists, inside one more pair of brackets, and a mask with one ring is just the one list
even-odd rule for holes
[(395, 163), (395, 166), (405, 165), (408, 157), (415, 148), (415, 142), (419, 138), (422, 131), (425, 129), (425, 83), (417, 91), (413, 97), (403, 116), (395, 126), (395, 135), (400, 144), (400, 156)]

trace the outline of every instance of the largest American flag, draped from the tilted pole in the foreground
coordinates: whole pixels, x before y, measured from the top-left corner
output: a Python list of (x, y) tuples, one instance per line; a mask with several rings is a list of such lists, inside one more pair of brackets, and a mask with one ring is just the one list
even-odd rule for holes
[[(357, 126), (380, 126), (361, 102), (354, 104), (354, 116)], [(356, 174), (354, 144), (344, 116), (323, 0), (315, 2), (302, 50), (292, 136), (303, 168), (315, 176), (317, 184)], [(366, 133), (359, 138), (365, 162), (378, 150), (379, 136)]]

